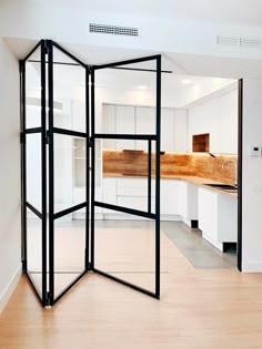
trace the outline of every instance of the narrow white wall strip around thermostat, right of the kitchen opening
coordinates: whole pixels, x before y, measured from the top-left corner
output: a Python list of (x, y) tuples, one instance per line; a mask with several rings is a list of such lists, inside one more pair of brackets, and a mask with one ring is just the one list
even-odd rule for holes
[(262, 271), (262, 157), (250, 146), (262, 146), (262, 80), (243, 81), (243, 214), (242, 268)]

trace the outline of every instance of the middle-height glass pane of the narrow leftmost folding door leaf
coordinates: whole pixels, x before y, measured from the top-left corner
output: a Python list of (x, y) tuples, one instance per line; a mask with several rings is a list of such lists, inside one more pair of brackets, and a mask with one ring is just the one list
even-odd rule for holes
[(27, 134), (27, 202), (39, 212), (41, 203), (41, 134)]

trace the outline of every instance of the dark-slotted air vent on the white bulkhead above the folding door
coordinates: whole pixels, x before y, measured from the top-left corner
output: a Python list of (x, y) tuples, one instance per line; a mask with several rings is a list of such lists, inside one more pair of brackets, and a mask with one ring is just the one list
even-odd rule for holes
[(113, 34), (113, 35), (125, 35), (125, 37), (139, 37), (139, 29), (131, 27), (119, 27), (119, 25), (108, 25), (108, 24), (89, 24), (90, 33), (100, 34)]

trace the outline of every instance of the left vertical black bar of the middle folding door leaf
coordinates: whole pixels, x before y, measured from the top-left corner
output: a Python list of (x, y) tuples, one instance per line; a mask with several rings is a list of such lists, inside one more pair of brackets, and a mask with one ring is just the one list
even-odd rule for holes
[(53, 45), (48, 40), (48, 86), (49, 86), (49, 301), (54, 298), (54, 247), (53, 247)]

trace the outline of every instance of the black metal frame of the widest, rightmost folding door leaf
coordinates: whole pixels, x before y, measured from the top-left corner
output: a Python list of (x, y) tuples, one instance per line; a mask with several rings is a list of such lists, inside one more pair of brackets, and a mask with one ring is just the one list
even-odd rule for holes
[[(155, 61), (157, 69), (155, 70), (147, 70), (157, 73), (157, 95), (155, 95), (155, 110), (157, 110), (157, 117), (155, 117), (155, 134), (102, 134), (95, 132), (95, 71), (102, 69), (125, 69), (125, 70), (137, 70), (135, 68), (124, 68), (124, 65), (142, 63)], [(139, 69), (141, 71), (141, 69)], [(92, 141), (92, 154), (91, 154), (91, 163), (92, 163), (92, 174), (91, 174), (91, 268), (94, 273), (98, 273), (102, 276), (105, 276), (114, 281), (129, 286), (138, 291), (147, 294), (153, 298), (160, 298), (160, 134), (161, 134), (161, 55), (151, 55), (140, 59), (127, 60), (114, 62), (110, 64), (97, 65), (92, 66), (91, 70), (91, 141)], [(95, 201), (94, 191), (95, 191), (95, 140), (138, 140), (138, 141), (147, 141), (148, 142), (148, 211), (138, 211), (132, 209), (119, 205), (112, 205), (108, 203), (102, 203)], [(155, 213), (152, 213), (151, 207), (151, 158), (152, 158), (152, 142), (155, 142)], [(123, 279), (120, 279), (115, 276), (112, 276), (108, 273), (104, 273), (98, 268), (95, 268), (95, 256), (94, 256), (94, 236), (95, 236), (95, 228), (94, 228), (94, 207), (101, 207), (107, 209), (112, 209), (125, 214), (131, 214), (139, 217), (150, 218), (155, 222), (155, 285), (154, 291), (141, 288), (137, 285), (128, 283)]]

